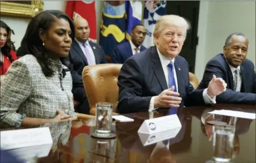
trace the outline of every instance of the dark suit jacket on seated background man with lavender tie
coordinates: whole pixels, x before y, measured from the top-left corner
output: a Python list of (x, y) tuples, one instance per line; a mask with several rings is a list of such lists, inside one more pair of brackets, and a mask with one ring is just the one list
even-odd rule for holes
[[(93, 54), (95, 55), (96, 64), (106, 63), (105, 53), (103, 48), (97, 43), (89, 42), (89, 45), (92, 47)], [(69, 52), (68, 59), (72, 64), (72, 80), (73, 80), (73, 94), (74, 98), (78, 95), (79, 89), (83, 89), (82, 82), (82, 72), (83, 68), (88, 65), (86, 56), (84, 55), (82, 49), (80, 48), (78, 42), (74, 41)]]

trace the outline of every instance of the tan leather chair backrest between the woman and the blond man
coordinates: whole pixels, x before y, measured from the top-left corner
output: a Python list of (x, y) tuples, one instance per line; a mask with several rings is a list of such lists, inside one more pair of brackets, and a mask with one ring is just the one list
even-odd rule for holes
[(113, 112), (118, 103), (117, 80), (122, 64), (97, 64), (84, 67), (82, 73), (83, 86), (90, 109), (96, 103), (107, 102), (113, 104)]

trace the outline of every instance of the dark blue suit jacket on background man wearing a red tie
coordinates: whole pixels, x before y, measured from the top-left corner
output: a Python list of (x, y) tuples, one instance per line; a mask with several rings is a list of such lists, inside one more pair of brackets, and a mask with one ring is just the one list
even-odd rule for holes
[[(140, 52), (142, 52), (143, 50), (146, 50), (146, 47), (141, 45)], [(113, 51), (111, 62), (123, 64), (131, 56), (133, 56), (133, 50), (131, 49), (130, 42), (127, 41), (125, 43), (121, 43), (120, 45), (117, 45), (117, 47)]]

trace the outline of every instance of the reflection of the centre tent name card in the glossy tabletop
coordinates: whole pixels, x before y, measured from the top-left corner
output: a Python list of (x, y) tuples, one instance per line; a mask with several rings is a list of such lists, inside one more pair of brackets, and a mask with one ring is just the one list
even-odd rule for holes
[(165, 131), (151, 134), (151, 135), (143, 134), (143, 133), (138, 133), (138, 134), (139, 134), (140, 142), (142, 142), (143, 146), (148, 146), (150, 144), (155, 144), (163, 140), (172, 139), (178, 134), (178, 132), (180, 132), (180, 130), (181, 130), (181, 127), (177, 127), (172, 130), (165, 130)]

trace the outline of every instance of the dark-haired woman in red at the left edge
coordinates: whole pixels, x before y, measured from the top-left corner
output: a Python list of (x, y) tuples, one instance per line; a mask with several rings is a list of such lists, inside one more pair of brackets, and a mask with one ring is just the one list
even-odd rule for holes
[[(18, 59), (15, 54), (15, 46), (11, 41), (11, 30), (8, 25), (0, 20), (0, 75), (5, 75), (12, 61)], [(14, 33), (13, 33), (14, 34)], [(2, 81), (2, 80), (1, 80)]]

